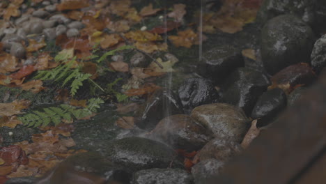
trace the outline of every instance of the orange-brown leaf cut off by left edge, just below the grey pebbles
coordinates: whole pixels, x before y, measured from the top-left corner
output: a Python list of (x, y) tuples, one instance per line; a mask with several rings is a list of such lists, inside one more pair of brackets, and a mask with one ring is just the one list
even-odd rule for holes
[(15, 56), (4, 53), (0, 55), (0, 72), (14, 72), (17, 68), (18, 59)]

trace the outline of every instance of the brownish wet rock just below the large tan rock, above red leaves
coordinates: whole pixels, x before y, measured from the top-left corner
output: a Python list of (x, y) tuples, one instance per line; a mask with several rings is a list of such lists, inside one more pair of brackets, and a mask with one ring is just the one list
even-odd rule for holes
[(215, 138), (203, 146), (197, 153), (194, 160), (209, 160), (215, 158), (219, 161), (226, 162), (231, 160), (235, 155), (242, 151), (240, 143), (233, 140)]

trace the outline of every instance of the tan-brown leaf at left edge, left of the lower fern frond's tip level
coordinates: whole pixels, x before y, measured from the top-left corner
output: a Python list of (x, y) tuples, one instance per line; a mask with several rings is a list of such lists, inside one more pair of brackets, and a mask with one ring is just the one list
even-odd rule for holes
[(14, 100), (11, 103), (0, 103), (0, 116), (13, 116), (15, 114), (22, 114), (22, 109), (29, 107), (31, 101), (29, 100)]

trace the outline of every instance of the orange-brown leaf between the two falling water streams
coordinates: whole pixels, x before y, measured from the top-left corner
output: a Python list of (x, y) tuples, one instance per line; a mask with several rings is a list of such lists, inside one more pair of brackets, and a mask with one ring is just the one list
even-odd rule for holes
[(192, 29), (179, 31), (178, 36), (169, 36), (169, 40), (171, 40), (176, 47), (190, 48), (192, 45), (198, 44), (198, 36)]

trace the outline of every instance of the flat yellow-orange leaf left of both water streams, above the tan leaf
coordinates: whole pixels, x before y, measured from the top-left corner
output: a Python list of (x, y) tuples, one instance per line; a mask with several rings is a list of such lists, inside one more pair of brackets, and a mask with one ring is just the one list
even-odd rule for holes
[(150, 33), (148, 31), (129, 31), (125, 33), (125, 38), (132, 39), (139, 42), (147, 42), (147, 41), (157, 41), (162, 40), (162, 36), (157, 33)]

